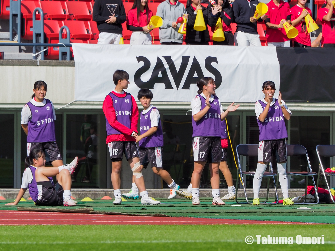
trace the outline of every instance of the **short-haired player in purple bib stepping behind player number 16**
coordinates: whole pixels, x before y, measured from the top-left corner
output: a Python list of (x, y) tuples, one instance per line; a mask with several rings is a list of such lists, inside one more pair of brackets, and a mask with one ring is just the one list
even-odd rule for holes
[[(138, 153), (141, 167), (147, 168), (150, 162), (152, 171), (160, 176), (170, 187), (170, 195), (167, 198), (172, 199), (176, 197), (176, 190), (180, 187), (171, 178), (169, 172), (162, 168), (163, 131), (159, 111), (151, 105), (152, 97), (152, 92), (149, 89), (140, 89), (137, 94), (137, 98), (144, 109), (140, 115), (141, 135), (136, 138), (136, 142), (139, 142)], [(134, 177), (130, 192), (124, 193), (122, 196), (138, 198), (138, 188), (134, 183)]]

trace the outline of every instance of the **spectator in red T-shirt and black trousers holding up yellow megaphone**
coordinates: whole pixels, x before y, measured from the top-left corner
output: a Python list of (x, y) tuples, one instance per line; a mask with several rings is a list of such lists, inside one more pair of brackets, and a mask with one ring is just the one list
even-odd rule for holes
[(297, 37), (292, 39), (294, 47), (311, 47), (311, 37), (307, 32), (305, 16), (312, 15), (310, 8), (306, 7), (307, 0), (298, 0), (298, 4), (291, 8), (291, 24), (298, 30)]

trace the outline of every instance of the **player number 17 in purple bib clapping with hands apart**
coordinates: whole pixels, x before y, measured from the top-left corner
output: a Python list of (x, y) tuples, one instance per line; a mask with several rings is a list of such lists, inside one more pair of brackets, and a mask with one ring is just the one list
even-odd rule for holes
[(202, 170), (209, 163), (213, 205), (224, 205), (220, 199), (219, 165), (223, 160), (221, 149), (221, 121), (239, 105), (232, 103), (223, 112), (220, 100), (215, 96), (215, 82), (211, 77), (203, 77), (197, 82), (199, 95), (191, 102), (193, 126), (194, 171), (192, 174), (192, 204), (199, 205), (199, 185)]

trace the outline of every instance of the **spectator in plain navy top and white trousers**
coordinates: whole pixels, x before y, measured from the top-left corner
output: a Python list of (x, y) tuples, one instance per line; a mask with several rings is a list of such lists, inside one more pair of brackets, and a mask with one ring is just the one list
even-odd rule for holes
[(232, 3), (236, 26), (236, 41), (239, 46), (262, 46), (257, 33), (257, 21), (267, 18), (254, 18), (258, 0), (236, 0)]

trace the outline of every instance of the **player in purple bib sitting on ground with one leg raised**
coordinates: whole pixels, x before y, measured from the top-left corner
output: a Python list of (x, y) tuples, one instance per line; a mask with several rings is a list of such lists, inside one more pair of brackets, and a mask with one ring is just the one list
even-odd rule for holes
[[(30, 151), (25, 159), (26, 169), (22, 176), (21, 189), (15, 202), (6, 205), (17, 205), (27, 188), (29, 195), (38, 206), (75, 206), (77, 201), (71, 199), (71, 174), (77, 166), (78, 157), (60, 167), (45, 167), (45, 153), (43, 150)], [(52, 176), (58, 176), (56, 185)]]

